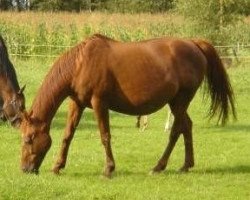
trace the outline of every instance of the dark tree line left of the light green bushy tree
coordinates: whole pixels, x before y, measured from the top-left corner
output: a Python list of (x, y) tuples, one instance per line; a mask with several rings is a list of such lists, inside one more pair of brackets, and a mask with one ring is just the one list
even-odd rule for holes
[(175, 0), (0, 0), (0, 10), (164, 12)]

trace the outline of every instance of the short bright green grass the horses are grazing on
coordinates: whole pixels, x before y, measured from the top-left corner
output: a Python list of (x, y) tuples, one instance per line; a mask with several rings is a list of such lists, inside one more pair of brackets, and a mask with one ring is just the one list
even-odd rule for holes
[[(53, 61), (13, 59), (21, 85), (26, 84), (27, 108)], [(184, 161), (183, 138), (174, 149), (167, 170), (149, 171), (162, 155), (169, 133), (164, 133), (166, 108), (150, 115), (145, 132), (135, 128), (135, 117), (111, 112), (112, 146), (116, 172), (101, 176), (104, 149), (92, 110), (82, 117), (72, 142), (66, 168), (51, 173), (64, 132), (67, 101), (51, 127), (53, 139), (39, 175), (20, 170), (19, 130), (0, 123), (0, 199), (250, 199), (250, 68), (228, 69), (236, 96), (238, 120), (216, 126), (206, 118), (209, 101), (199, 90), (189, 108), (193, 120), (195, 166), (179, 173)], [(48, 88), (49, 90), (49, 88)]]

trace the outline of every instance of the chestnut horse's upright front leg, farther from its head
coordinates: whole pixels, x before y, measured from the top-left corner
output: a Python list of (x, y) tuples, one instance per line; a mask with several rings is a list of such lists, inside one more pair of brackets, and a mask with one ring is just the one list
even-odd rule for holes
[(94, 109), (98, 126), (100, 129), (102, 144), (106, 153), (106, 166), (104, 170), (104, 176), (111, 177), (112, 172), (115, 170), (115, 161), (111, 148), (111, 135), (109, 128), (109, 111), (108, 107), (102, 102), (101, 99), (93, 97), (91, 100), (92, 107)]

